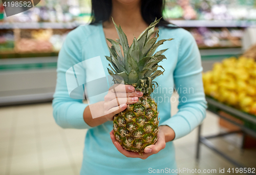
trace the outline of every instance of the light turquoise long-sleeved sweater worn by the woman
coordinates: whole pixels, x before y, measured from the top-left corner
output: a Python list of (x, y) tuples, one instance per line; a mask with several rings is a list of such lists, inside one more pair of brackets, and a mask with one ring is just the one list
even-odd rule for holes
[[(160, 125), (172, 127), (176, 140), (189, 134), (205, 118), (206, 101), (202, 83), (201, 58), (195, 39), (186, 30), (159, 28), (159, 35), (159, 40), (167, 38), (174, 38), (174, 40), (164, 42), (157, 50), (168, 48), (164, 53), (167, 59), (159, 63), (165, 72), (155, 79), (159, 87), (152, 97), (158, 103)], [(105, 55), (109, 56), (110, 53), (102, 25), (99, 24), (83, 25), (71, 31), (58, 57), (57, 84), (52, 104), (54, 119), (63, 128), (88, 129), (80, 173), (86, 175), (152, 174), (150, 172), (154, 172), (154, 169), (172, 172), (172, 169), (177, 168), (173, 142), (166, 143), (163, 150), (146, 160), (126, 158), (115, 148), (110, 139), (109, 133), (113, 122), (108, 121), (99, 126), (90, 127), (83, 120), (83, 111), (88, 104), (83, 104), (81, 99), (73, 99), (69, 96), (66, 82), (67, 70), (81, 61), (100, 56), (104, 73), (109, 75), (106, 69), (109, 62)], [(99, 62), (84, 65), (84, 74), (87, 74), (84, 75), (84, 82), (87, 82), (88, 77), (93, 79), (97, 76), (98, 65), (100, 65)], [(87, 83), (84, 86), (86, 87)], [(179, 93), (179, 99), (171, 98), (174, 86)], [(170, 116), (170, 100), (179, 100), (179, 112), (174, 116)], [(90, 103), (94, 102), (97, 100), (90, 101)]]

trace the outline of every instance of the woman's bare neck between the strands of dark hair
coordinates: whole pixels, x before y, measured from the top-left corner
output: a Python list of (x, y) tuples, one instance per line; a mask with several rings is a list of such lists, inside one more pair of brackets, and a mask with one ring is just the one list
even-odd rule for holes
[[(115, 23), (120, 25), (123, 29), (138, 29), (138, 26), (147, 26), (141, 16), (141, 4), (140, 1), (136, 3), (123, 4), (116, 0), (112, 1), (112, 13)], [(113, 28), (112, 18), (109, 21), (105, 21), (104, 27)], [(144, 28), (144, 27), (143, 27)]]

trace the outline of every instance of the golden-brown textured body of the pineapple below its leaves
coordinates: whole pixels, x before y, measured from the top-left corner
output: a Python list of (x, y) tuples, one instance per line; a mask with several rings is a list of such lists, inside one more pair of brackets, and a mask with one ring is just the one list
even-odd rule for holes
[(114, 135), (125, 150), (142, 153), (157, 141), (157, 104), (150, 96), (141, 97), (135, 104), (114, 116)]

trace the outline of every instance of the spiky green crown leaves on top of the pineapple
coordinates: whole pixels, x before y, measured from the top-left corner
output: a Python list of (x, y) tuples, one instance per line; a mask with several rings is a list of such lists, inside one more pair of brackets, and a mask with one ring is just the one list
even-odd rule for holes
[[(153, 80), (164, 72), (163, 67), (158, 63), (166, 59), (162, 54), (167, 49), (156, 53), (155, 51), (164, 41), (173, 39), (157, 41), (159, 30), (155, 30), (155, 26), (160, 20), (161, 18), (151, 23), (137, 39), (134, 37), (131, 47), (129, 47), (122, 28), (120, 25), (117, 26), (113, 20), (119, 39), (116, 39), (116, 41), (108, 39), (112, 46), (109, 47), (110, 57), (105, 57), (111, 63), (109, 64), (111, 69), (108, 68), (108, 71), (113, 77), (114, 83), (121, 83), (123, 80), (125, 84), (131, 84), (142, 91), (144, 95), (150, 95), (158, 86), (157, 82)], [(156, 36), (151, 37), (154, 33), (156, 33)], [(162, 70), (158, 70), (158, 68)]]

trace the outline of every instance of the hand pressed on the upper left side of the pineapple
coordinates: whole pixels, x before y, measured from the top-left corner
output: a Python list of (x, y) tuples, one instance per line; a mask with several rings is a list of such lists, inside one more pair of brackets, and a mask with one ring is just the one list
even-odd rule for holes
[(138, 102), (139, 97), (142, 96), (143, 93), (135, 91), (132, 85), (114, 84), (104, 97), (105, 118), (109, 121), (113, 121), (114, 116), (124, 111), (127, 104)]

